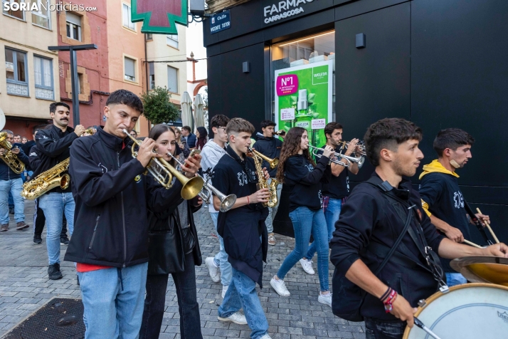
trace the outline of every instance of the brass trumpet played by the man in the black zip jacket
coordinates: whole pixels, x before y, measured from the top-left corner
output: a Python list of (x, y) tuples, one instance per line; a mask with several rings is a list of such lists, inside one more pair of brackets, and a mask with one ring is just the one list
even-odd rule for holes
[[(136, 145), (141, 145), (141, 141), (132, 137), (132, 135), (127, 132), (127, 130), (122, 130), (122, 132), (124, 132), (125, 135), (127, 135), (127, 137), (129, 137), (134, 142), (134, 144), (132, 144), (131, 152), (132, 157), (137, 157), (137, 152), (134, 150), (134, 147), (136, 147)], [(186, 200), (196, 197), (199, 191), (201, 191), (203, 188), (203, 178), (186, 178), (184, 174), (178, 172), (173, 166), (169, 165), (169, 162), (166, 162), (164, 159), (152, 157), (146, 167), (146, 171), (152, 174), (155, 180), (162, 184), (162, 187), (165, 189), (169, 189), (173, 186), (171, 182), (173, 182), (173, 177), (176, 177), (176, 179), (178, 179), (179, 182), (184, 185), (184, 187), (181, 188), (181, 197)]]

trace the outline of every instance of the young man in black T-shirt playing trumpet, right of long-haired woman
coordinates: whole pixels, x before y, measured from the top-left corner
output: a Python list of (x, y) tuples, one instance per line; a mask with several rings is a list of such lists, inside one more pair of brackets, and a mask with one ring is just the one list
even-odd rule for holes
[[(322, 148), (330, 146), (336, 153), (339, 153), (342, 146), (342, 125), (339, 122), (329, 122), (324, 126), (324, 135), (327, 137), (327, 143)], [(351, 140), (344, 155), (353, 156), (354, 152), (357, 151), (356, 145), (358, 145), (358, 142), (358, 139)], [(322, 153), (322, 151), (319, 153)], [(340, 158), (336, 159), (341, 160)], [(346, 160), (342, 159), (342, 162), (346, 162)], [(349, 167), (332, 162), (325, 172), (330, 178), (327, 183), (322, 184), (323, 209), (324, 218), (327, 220), (328, 241), (332, 240), (335, 222), (339, 220), (342, 204), (346, 202), (349, 196), (349, 172), (358, 174), (357, 162), (351, 162)], [(302, 265), (305, 273), (314, 274), (314, 268), (312, 268), (314, 254), (316, 254), (316, 244), (312, 242), (305, 258), (300, 259), (300, 265)]]

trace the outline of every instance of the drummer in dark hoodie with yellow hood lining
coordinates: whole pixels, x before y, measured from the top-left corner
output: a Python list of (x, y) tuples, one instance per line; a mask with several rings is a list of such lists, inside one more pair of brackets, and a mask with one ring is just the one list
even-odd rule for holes
[[(459, 128), (441, 130), (434, 139), (438, 159), (423, 166), (420, 174), (420, 196), (430, 222), (448, 239), (455, 242), (471, 241), (468, 224), (473, 221), (467, 214), (455, 170), (471, 159), (473, 137)], [(490, 221), (489, 216), (476, 214), (479, 220)], [(467, 283), (462, 274), (450, 266), (450, 259), (441, 259), (448, 286)]]

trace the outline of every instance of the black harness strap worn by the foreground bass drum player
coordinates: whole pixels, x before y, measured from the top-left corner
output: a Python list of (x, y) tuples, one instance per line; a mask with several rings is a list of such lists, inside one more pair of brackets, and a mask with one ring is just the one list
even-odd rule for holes
[[(388, 182), (382, 182), (379, 184), (381, 180), (378, 177), (371, 177), (371, 179), (367, 180), (366, 182), (375, 186), (376, 188), (380, 189), (381, 192), (384, 193), (385, 197), (389, 200), (394, 200), (396, 203), (401, 204), (402, 207), (406, 207), (408, 209), (408, 213), (411, 214), (411, 211), (413, 211), (414, 220), (416, 221), (416, 227), (414, 226), (408, 226), (405, 227), (407, 229), (409, 236), (411, 236), (411, 239), (416, 244), (416, 247), (418, 248), (418, 251), (423, 256), (423, 258), (426, 261), (426, 264), (423, 264), (420, 259), (418, 259), (413, 252), (411, 252), (406, 245), (404, 245), (401, 241), (396, 241), (395, 246), (398, 247), (397, 251), (394, 251), (394, 248), (390, 248), (386, 246), (385, 244), (381, 244), (377, 241), (371, 241), (371, 244), (369, 244), (369, 251), (373, 252), (374, 254), (385, 257), (388, 259), (388, 254), (393, 254), (391, 260), (393, 262), (396, 262), (397, 264), (401, 264), (403, 266), (409, 267), (409, 268), (415, 268), (416, 266), (420, 266), (420, 268), (423, 268), (427, 271), (430, 271), (430, 273), (433, 274), (433, 278), (435, 281), (438, 282), (439, 290), (442, 293), (448, 292), (448, 286), (446, 285), (445, 281), (443, 280), (444, 272), (443, 268), (440, 265), (440, 259), (438, 254), (433, 251), (433, 249), (428, 246), (427, 240), (425, 239), (425, 235), (423, 234), (423, 228), (420, 225), (420, 221), (418, 219), (418, 213), (416, 212), (416, 205), (409, 206), (408, 202), (404, 202), (401, 198), (397, 197), (395, 193), (393, 193), (393, 187)], [(406, 208), (397, 208), (396, 205), (393, 205), (393, 208), (396, 209), (396, 212), (401, 219), (409, 218), (409, 215), (406, 215), (406, 211), (404, 211)], [(406, 219), (407, 222), (407, 219)], [(405, 231), (404, 231), (405, 233)], [(399, 236), (399, 239), (402, 238)], [(388, 259), (389, 260), (389, 259)]]

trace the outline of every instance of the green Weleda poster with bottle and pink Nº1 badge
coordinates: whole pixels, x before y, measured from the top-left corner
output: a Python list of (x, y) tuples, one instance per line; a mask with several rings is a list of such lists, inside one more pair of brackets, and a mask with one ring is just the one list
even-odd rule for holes
[(275, 71), (275, 123), (277, 130), (303, 127), (311, 145), (327, 142), (324, 126), (332, 121), (333, 61)]

